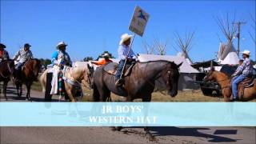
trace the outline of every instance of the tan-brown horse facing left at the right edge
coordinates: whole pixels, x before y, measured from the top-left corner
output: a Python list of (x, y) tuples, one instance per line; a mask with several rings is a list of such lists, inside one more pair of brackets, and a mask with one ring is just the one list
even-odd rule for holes
[[(209, 74), (206, 75), (205, 78), (206, 81), (214, 81), (218, 82), (218, 84), (222, 88), (222, 94), (224, 97), (225, 102), (230, 102), (230, 97), (232, 95), (232, 90), (231, 90), (231, 78), (219, 71), (214, 70), (212, 68), (209, 72)], [(251, 99), (256, 98), (256, 79), (254, 79), (254, 86), (251, 86), (249, 88), (245, 88), (244, 94), (242, 96), (241, 91), (238, 91), (238, 98), (241, 101), (249, 101)]]

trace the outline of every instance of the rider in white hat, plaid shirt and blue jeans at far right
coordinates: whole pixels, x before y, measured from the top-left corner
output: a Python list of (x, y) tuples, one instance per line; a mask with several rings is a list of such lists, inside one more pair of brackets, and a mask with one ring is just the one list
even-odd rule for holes
[(244, 50), (242, 52), (242, 58), (244, 61), (242, 65), (238, 66), (238, 69), (231, 75), (233, 78), (231, 81), (233, 98), (231, 100), (238, 100), (238, 84), (247, 77), (250, 77), (253, 73), (253, 66), (250, 62), (250, 51)]

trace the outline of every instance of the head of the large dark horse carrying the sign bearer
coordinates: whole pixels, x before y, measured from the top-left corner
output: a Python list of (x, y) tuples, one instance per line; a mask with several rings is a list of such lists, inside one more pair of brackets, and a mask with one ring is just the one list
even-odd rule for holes
[(178, 94), (178, 68), (182, 63), (176, 65), (174, 62), (169, 62), (164, 70), (162, 70), (162, 78), (166, 82), (168, 94), (175, 97)]

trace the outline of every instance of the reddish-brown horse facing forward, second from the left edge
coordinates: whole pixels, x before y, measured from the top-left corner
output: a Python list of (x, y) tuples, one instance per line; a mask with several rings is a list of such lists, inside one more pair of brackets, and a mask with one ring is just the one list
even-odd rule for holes
[(41, 69), (41, 62), (37, 58), (29, 59), (22, 69), (22, 81), (15, 82), (18, 97), (22, 96), (22, 83), (26, 85), (26, 98), (30, 100), (30, 87), (34, 81), (38, 81), (38, 73)]

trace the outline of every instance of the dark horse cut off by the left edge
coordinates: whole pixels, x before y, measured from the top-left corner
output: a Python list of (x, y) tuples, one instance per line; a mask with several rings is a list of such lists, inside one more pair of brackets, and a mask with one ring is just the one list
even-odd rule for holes
[(2, 61), (0, 64), (0, 82), (3, 82), (2, 85), (2, 92), (7, 100), (6, 97), (6, 89), (7, 84), (10, 81), (10, 75), (14, 72), (14, 61), (13, 60), (6, 60)]

